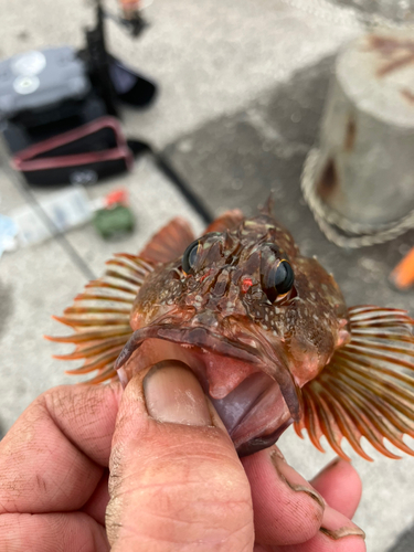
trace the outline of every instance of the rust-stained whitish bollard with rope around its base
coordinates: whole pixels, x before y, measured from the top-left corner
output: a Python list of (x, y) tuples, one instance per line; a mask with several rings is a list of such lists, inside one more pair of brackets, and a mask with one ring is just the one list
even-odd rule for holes
[(315, 191), (371, 227), (414, 209), (414, 35), (375, 31), (338, 57), (320, 131)]

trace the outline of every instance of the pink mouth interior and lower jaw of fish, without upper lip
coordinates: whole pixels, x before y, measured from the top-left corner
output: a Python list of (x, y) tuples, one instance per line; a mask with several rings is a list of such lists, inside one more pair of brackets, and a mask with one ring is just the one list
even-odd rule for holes
[(168, 360), (198, 378), (241, 456), (273, 445), (291, 423), (279, 385), (257, 365), (199, 347), (147, 339), (118, 370), (124, 386), (137, 373)]

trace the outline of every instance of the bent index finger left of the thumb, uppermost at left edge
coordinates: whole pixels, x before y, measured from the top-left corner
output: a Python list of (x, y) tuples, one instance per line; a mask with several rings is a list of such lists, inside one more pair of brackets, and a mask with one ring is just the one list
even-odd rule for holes
[(0, 514), (81, 508), (108, 466), (120, 384), (39, 396), (0, 442)]

